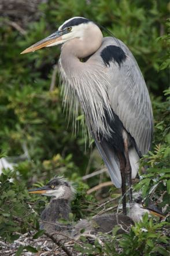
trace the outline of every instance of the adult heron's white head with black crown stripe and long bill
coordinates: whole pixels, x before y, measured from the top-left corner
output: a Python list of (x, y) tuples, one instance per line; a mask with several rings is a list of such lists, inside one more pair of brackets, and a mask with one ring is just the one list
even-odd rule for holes
[[(90, 31), (90, 34), (88, 33), (88, 31)], [(102, 38), (101, 30), (93, 21), (83, 17), (73, 17), (72, 19), (66, 20), (58, 28), (58, 30), (53, 34), (49, 35), (49, 37), (46, 37), (45, 39), (42, 39), (36, 44), (25, 49), (23, 52), (21, 52), (21, 54), (34, 52), (44, 47), (64, 44), (65, 42), (74, 38), (79, 38), (80, 40), (83, 40), (85, 35), (86, 37), (88, 37), (88, 34), (93, 34), (94, 36), (95, 34), (99, 34), (99, 36)]]

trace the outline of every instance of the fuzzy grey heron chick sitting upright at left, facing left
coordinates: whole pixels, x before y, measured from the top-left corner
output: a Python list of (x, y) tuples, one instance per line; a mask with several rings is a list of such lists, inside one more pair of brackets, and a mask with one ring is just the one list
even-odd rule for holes
[(69, 220), (71, 212), (70, 203), (75, 193), (73, 186), (66, 179), (56, 177), (41, 188), (30, 189), (31, 194), (43, 194), (50, 196), (51, 200), (47, 207), (42, 211), (41, 228), (47, 232), (69, 230), (69, 225), (58, 222), (59, 219)]

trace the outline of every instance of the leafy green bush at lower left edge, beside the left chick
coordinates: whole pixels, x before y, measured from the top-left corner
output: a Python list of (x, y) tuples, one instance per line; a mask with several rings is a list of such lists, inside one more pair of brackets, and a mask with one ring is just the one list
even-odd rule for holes
[(28, 190), (25, 183), (10, 181), (16, 178), (8, 172), (8, 176), (1, 174), (0, 191), (0, 236), (9, 242), (19, 238), (19, 233), (27, 232), (32, 221), (36, 222), (36, 216), (28, 204)]

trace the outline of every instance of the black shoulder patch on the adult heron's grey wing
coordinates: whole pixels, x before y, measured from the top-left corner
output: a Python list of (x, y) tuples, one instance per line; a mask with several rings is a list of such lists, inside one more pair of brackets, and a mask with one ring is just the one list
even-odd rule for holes
[(109, 62), (113, 60), (113, 62), (117, 62), (120, 67), (121, 63), (123, 63), (126, 59), (124, 51), (119, 46), (115, 45), (106, 46), (106, 48), (104, 48), (101, 52), (101, 57), (106, 66), (110, 66)]

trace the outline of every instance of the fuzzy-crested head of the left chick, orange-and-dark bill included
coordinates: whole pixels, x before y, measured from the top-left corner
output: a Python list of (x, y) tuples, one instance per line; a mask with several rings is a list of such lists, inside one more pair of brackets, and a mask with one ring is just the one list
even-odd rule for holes
[(51, 179), (46, 186), (29, 189), (31, 194), (43, 194), (45, 196), (54, 196), (56, 199), (68, 199), (71, 200), (74, 194), (74, 189), (71, 184), (62, 177), (56, 177)]

